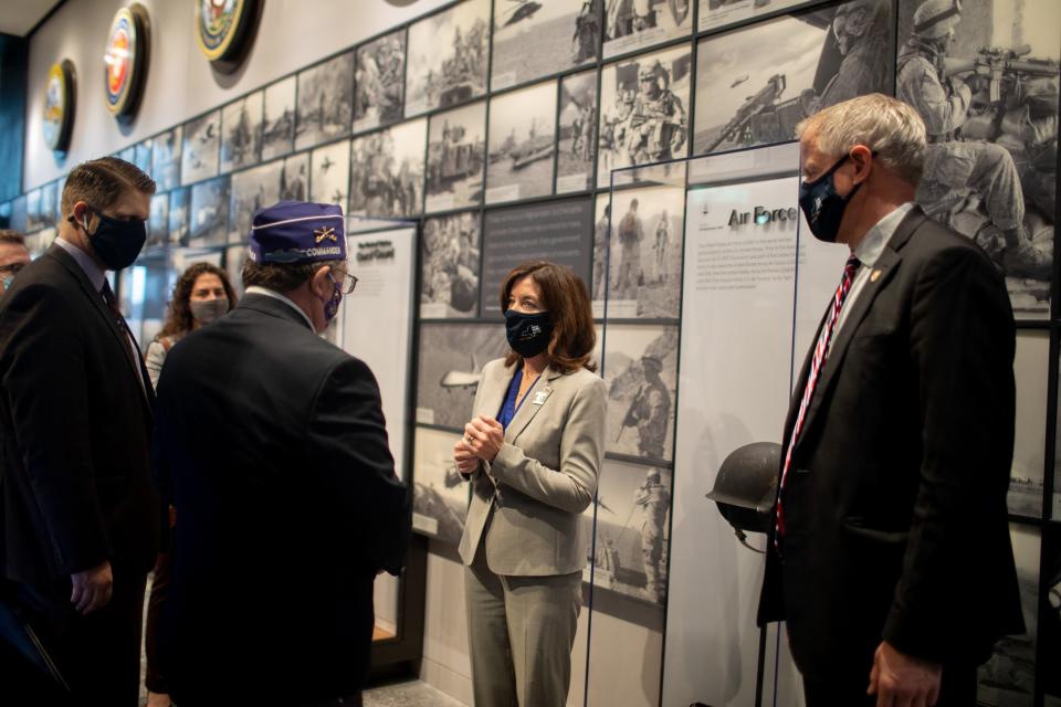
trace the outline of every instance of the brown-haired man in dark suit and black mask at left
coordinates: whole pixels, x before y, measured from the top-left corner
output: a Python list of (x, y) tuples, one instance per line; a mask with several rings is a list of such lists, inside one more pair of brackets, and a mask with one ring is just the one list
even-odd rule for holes
[[(136, 260), (154, 191), (113, 157), (75, 167), (59, 240), (0, 302), (0, 583), (78, 705), (138, 701), (154, 394), (105, 275)], [(33, 677), (4, 668), (0, 695)]]

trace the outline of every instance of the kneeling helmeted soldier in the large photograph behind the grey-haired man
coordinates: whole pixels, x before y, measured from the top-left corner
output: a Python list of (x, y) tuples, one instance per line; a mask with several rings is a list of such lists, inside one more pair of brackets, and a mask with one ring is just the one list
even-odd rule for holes
[[(946, 222), (971, 189), (983, 201), (994, 231), (985, 229), (977, 242), (1001, 265), (1007, 275), (1048, 279), (1053, 261), (1049, 241), (1034, 242), (1026, 231), (1025, 196), (1012, 156), (1001, 146), (962, 140), (957, 134), (969, 117), (973, 94), (985, 80), (966, 80), (944, 72), (947, 46), (962, 19), (956, 0), (925, 0), (914, 11), (910, 39), (899, 55), (896, 96), (917, 109), (928, 128), (925, 175), (917, 188), (918, 203)], [(942, 213), (932, 205), (950, 204)], [(934, 213), (936, 212), (936, 213)], [(985, 233), (985, 231), (990, 231)]]

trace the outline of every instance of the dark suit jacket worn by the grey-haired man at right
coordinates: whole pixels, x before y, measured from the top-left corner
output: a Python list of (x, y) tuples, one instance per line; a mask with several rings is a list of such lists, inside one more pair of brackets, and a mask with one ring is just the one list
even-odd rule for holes
[(760, 623), (787, 622), (798, 667), (818, 679), (868, 676), (882, 639), (925, 659), (979, 663), (1023, 630), (1006, 508), (1005, 283), (978, 246), (918, 208), (874, 267), (792, 452), (784, 560), (771, 541), (759, 604)]

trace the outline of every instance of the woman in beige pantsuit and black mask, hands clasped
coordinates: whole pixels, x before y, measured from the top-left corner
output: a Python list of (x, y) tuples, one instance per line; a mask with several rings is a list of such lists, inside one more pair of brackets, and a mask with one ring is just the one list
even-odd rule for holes
[(472, 482), (461, 559), (476, 705), (560, 707), (571, 677), (606, 393), (586, 285), (533, 261), (501, 288), (508, 356), (483, 368), (453, 447)]

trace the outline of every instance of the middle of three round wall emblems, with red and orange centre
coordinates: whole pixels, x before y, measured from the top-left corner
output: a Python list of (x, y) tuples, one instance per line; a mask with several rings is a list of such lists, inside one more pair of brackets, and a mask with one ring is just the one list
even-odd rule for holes
[(118, 10), (111, 22), (104, 53), (107, 109), (132, 118), (140, 102), (148, 62), (147, 10), (139, 3)]

